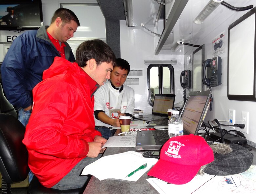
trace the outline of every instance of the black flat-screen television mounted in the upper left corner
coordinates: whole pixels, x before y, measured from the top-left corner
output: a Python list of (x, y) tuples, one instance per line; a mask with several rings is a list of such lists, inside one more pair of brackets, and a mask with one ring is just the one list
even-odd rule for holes
[(32, 30), (42, 25), (41, 0), (0, 0), (0, 30)]

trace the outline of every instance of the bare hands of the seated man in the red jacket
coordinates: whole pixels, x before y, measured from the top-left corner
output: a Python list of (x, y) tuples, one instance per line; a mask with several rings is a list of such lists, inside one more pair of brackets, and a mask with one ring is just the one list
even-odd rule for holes
[(89, 145), (89, 152), (86, 155), (90, 158), (95, 158), (99, 154), (102, 154), (106, 148), (102, 149), (102, 146), (106, 143), (107, 139), (101, 136), (95, 136), (93, 142), (88, 142)]

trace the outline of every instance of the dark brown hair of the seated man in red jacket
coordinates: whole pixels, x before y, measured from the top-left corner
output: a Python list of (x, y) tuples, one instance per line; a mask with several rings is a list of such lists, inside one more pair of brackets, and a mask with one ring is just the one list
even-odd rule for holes
[(87, 40), (81, 43), (75, 53), (75, 62), (80, 67), (85, 67), (86, 62), (92, 58), (96, 60), (97, 65), (102, 62), (116, 63), (116, 56), (109, 45), (99, 39)]

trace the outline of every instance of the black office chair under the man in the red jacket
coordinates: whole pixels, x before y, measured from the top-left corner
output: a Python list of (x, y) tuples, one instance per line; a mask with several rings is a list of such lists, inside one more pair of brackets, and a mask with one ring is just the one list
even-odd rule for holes
[[(0, 113), (0, 172), (2, 173), (2, 193), (11, 193), (11, 184), (27, 178), (28, 151), (22, 143), (25, 127), (14, 116)], [(79, 194), (83, 189), (57, 190), (42, 186), (34, 176), (28, 187), (28, 194)]]

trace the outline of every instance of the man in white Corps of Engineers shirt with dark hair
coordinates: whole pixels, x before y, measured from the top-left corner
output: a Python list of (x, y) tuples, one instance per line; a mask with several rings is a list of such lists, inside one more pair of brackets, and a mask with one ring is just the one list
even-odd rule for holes
[(117, 58), (110, 74), (110, 81), (94, 94), (95, 129), (106, 139), (116, 132), (116, 130), (110, 130), (113, 126), (120, 127), (118, 119), (120, 115), (131, 117), (133, 115), (135, 91), (123, 84), (129, 72), (129, 63), (122, 58)]

